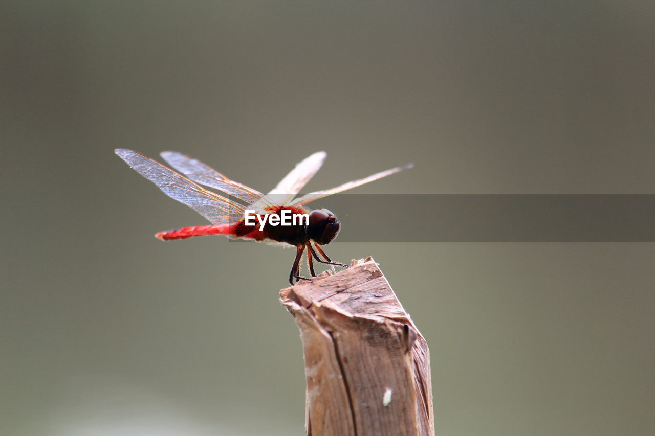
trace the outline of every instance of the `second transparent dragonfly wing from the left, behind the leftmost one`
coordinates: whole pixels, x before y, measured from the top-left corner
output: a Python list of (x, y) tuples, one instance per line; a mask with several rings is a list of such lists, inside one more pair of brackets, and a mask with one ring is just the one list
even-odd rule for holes
[(225, 175), (217, 172), (214, 168), (203, 164), (198, 159), (191, 158), (177, 151), (164, 151), (161, 153), (162, 158), (166, 160), (176, 170), (183, 173), (189, 179), (205, 185), (210, 188), (219, 189), (239, 200), (243, 200), (248, 204), (262, 204), (264, 206), (275, 207), (278, 206), (271, 198), (265, 194), (233, 181)]

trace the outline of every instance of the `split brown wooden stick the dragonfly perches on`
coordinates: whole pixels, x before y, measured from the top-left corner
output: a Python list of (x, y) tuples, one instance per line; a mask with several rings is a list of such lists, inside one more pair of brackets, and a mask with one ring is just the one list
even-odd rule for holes
[(305, 354), (310, 436), (434, 436), (430, 354), (370, 257), (280, 291)]

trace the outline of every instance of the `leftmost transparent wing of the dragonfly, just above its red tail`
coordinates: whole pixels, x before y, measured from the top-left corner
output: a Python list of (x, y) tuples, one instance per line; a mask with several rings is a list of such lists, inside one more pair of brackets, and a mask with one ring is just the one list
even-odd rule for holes
[(214, 192), (155, 162), (151, 158), (128, 149), (116, 149), (116, 154), (149, 181), (155, 183), (164, 194), (200, 213), (212, 224), (240, 221), (245, 209)]

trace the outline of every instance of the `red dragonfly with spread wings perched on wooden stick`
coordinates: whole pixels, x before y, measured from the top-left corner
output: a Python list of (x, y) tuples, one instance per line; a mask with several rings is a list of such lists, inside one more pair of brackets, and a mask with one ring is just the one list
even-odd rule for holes
[[(341, 223), (337, 221), (337, 217), (331, 211), (327, 209), (311, 211), (304, 207), (306, 204), (413, 166), (413, 164), (398, 166), (391, 170), (369, 175), (364, 179), (344, 183), (332, 189), (310, 192), (300, 198), (295, 198), (298, 192), (321, 168), (327, 156), (325, 152), (319, 151), (299, 162), (268, 194), (262, 194), (255, 189), (233, 181), (199, 160), (176, 151), (164, 151), (161, 156), (178, 172), (170, 170), (170, 168), (136, 151), (116, 149), (115, 152), (136, 172), (155, 183), (164, 194), (186, 204), (212, 223), (212, 225), (184, 227), (159, 232), (155, 234), (156, 238), (168, 241), (192, 238), (193, 236), (222, 234), (231, 238), (281, 242), (293, 245), (296, 247), (296, 253), (289, 274), (289, 283), (291, 285), (293, 285), (294, 278), (296, 283), (301, 279), (311, 280), (300, 275), (300, 263), (305, 248), (307, 248), (307, 262), (312, 277), (316, 276), (312, 257), (319, 263), (348, 268), (346, 264), (333, 262), (320, 247), (320, 245), (329, 244), (337, 237)], [(200, 185), (225, 192), (230, 199), (208, 191)], [(234, 199), (248, 204), (248, 208), (246, 209), (245, 206)], [(252, 216), (247, 217), (246, 210), (254, 211), (254, 213), (250, 213)], [(283, 213), (283, 211), (286, 211), (286, 213)], [(305, 219), (304, 223), (295, 221), (295, 225), (272, 224), (272, 215), (279, 215), (276, 217), (276, 221), (280, 221), (284, 218), (283, 215), (290, 214), (307, 214), (309, 219)], [(269, 216), (265, 217), (264, 215)], [(250, 219), (246, 220), (247, 218)], [(314, 243), (313, 246), (312, 242)]]

